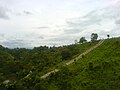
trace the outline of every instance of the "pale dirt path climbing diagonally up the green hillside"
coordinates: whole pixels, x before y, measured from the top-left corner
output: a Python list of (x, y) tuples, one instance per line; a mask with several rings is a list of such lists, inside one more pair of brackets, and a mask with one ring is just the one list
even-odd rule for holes
[[(99, 43), (96, 44), (95, 46), (93, 46), (93, 47), (91, 47), (90, 49), (86, 50), (84, 53), (80, 54), (78, 57), (76, 57), (76, 58), (72, 59), (71, 61), (65, 63), (65, 65), (70, 65), (70, 64), (78, 61), (79, 59), (82, 58), (83, 55), (88, 54), (90, 51), (92, 51), (92, 50), (94, 50), (95, 48), (97, 48), (98, 46), (100, 46), (103, 42), (104, 42), (104, 39), (101, 40), (101, 41), (99, 41)], [(53, 71), (50, 71), (50, 72), (46, 73), (45, 75), (41, 76), (40, 78), (42, 78), (42, 79), (43, 79), (43, 78), (46, 78), (46, 77), (48, 77), (51, 73), (55, 73), (55, 72), (58, 72), (58, 71), (60, 71), (60, 70), (59, 70), (59, 69), (55, 69), (55, 70), (53, 70)]]

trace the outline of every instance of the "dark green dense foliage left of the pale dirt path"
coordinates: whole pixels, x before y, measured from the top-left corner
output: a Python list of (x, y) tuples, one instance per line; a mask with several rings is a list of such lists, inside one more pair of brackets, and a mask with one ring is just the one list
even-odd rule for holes
[(64, 62), (97, 43), (40, 46), (33, 49), (8, 49), (0, 46), (0, 90), (44, 90), (50, 81), (41, 80), (42, 75), (54, 68), (63, 68), (61, 66)]

